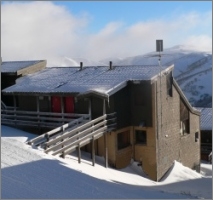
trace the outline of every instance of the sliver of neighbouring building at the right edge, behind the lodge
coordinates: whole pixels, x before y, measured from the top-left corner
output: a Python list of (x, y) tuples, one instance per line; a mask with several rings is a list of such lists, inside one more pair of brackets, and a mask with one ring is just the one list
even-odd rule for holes
[(201, 112), (201, 159), (208, 160), (208, 155), (212, 151), (212, 108), (196, 107)]

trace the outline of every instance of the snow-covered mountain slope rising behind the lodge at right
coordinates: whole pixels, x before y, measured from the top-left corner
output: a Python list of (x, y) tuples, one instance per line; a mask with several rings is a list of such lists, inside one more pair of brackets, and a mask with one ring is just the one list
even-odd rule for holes
[[(111, 58), (111, 60), (117, 65), (156, 65), (157, 55), (156, 52), (150, 52), (124, 59)], [(175, 46), (164, 50), (161, 64), (175, 65), (174, 77), (193, 106), (212, 107), (212, 52)]]

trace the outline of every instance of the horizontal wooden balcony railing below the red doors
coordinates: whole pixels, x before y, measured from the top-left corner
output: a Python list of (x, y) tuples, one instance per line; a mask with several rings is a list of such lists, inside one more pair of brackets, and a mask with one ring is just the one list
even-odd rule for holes
[(1, 123), (11, 126), (55, 128), (85, 114), (20, 111), (13, 107), (1, 110)]

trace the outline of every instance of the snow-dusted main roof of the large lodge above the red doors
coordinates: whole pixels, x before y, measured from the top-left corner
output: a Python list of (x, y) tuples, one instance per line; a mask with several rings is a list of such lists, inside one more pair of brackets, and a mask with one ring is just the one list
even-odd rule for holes
[[(173, 66), (172, 66), (173, 67)], [(169, 67), (164, 67), (168, 69)], [(17, 83), (3, 90), (5, 93), (99, 93), (113, 94), (119, 87), (125, 87), (129, 80), (151, 80), (159, 74), (159, 66), (89, 66), (51, 67), (21, 78)], [(113, 90), (113, 91), (112, 91)]]

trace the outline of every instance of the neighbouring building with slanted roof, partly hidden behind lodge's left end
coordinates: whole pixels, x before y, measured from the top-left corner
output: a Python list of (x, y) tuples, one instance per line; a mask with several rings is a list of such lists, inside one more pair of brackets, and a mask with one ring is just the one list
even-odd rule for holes
[[(3, 61), (1, 62), (1, 89), (16, 83), (16, 80), (28, 74), (35, 73), (46, 67), (46, 60)], [(13, 99), (2, 95), (7, 105), (13, 105)]]

